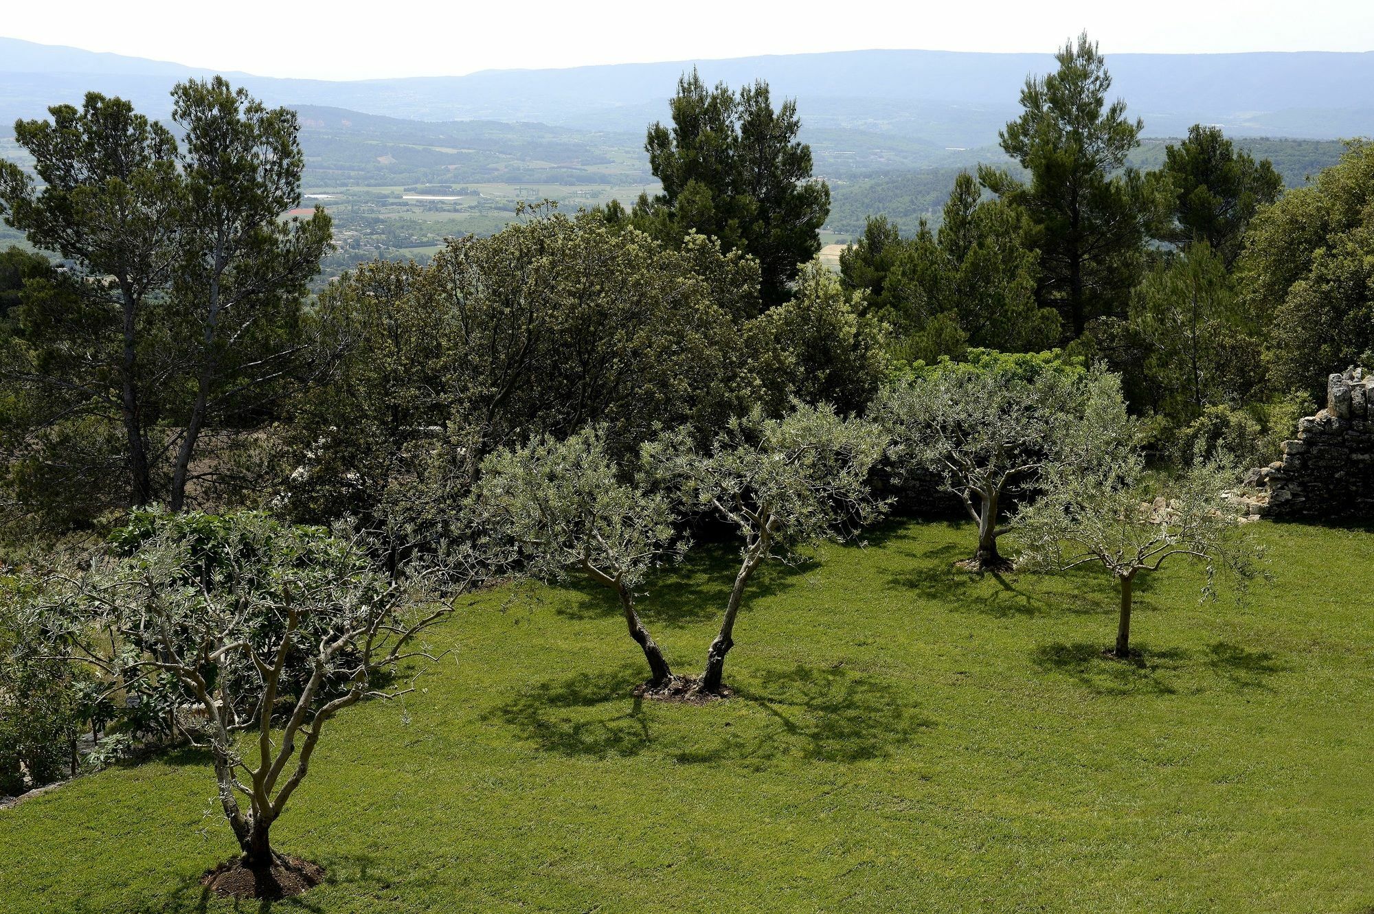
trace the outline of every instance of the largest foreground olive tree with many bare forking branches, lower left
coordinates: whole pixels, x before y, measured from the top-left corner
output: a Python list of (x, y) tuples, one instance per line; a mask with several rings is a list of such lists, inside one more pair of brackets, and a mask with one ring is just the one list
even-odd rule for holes
[(210, 749), (242, 867), (275, 884), (295, 865), (271, 829), (326, 725), (363, 699), (411, 690), (396, 681), (400, 664), (429, 656), (416, 638), (451, 611), (436, 597), (473, 586), (477, 565), (386, 575), (364, 534), (256, 512), (142, 512), (114, 543), (87, 574), (49, 574), (44, 605), (111, 688), (143, 679), (180, 696), (183, 729)]

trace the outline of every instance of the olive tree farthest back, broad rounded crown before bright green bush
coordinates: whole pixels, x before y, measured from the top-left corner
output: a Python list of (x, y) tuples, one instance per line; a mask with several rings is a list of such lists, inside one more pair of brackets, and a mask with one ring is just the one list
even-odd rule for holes
[(941, 473), (978, 524), (977, 550), (960, 565), (1004, 571), (1011, 563), (998, 538), (1010, 530), (1006, 501), (1035, 489), (1063, 425), (1081, 413), (1084, 391), (1103, 383), (1103, 372), (1057, 354), (984, 353), (890, 384), (871, 413), (893, 439), (897, 472)]

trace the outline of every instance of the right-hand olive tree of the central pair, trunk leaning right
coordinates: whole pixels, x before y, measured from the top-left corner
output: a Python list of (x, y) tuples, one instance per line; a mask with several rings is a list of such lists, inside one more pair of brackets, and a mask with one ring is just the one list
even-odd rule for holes
[(709, 450), (686, 435), (644, 447), (646, 461), (676, 484), (686, 505), (717, 515), (743, 539), (739, 571), (706, 651), (695, 694), (720, 694), (735, 618), (754, 571), (768, 559), (794, 560), (822, 539), (844, 541), (874, 522), (886, 502), (874, 497), (868, 473), (886, 436), (863, 419), (841, 419), (833, 406), (794, 403), (782, 419), (754, 412), (735, 419)]

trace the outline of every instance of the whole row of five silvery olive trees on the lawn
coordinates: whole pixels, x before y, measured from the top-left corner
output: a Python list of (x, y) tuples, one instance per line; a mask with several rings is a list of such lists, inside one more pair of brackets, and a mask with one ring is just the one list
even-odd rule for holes
[[(1022, 394), (1014, 409), (1006, 386)], [(954, 399), (962, 412), (938, 408)], [(434, 659), (416, 640), (456, 597), (513, 571), (584, 575), (614, 594), (644, 655), (642, 694), (724, 696), (754, 572), (881, 517), (890, 502), (875, 493), (872, 471), (885, 458), (899, 475), (944, 464), (947, 484), (980, 517), (973, 561), (993, 571), (1000, 530), (989, 526), (1018, 480), (1011, 522), (1026, 563), (1107, 570), (1121, 593), (1114, 653), (1128, 656), (1138, 575), (1189, 556), (1245, 578), (1254, 559), (1224, 497), (1234, 478), (1208, 464), (1150, 482), (1136, 441), (1113, 375), (1047, 358), (945, 364), (889, 386), (871, 417), (801, 402), (779, 419), (754, 410), (705, 447), (662, 432), (633, 465), (613, 458), (595, 425), (500, 447), (462, 500), (415, 513), (440, 526), (427, 549), (390, 564), (390, 531), (293, 526), (262, 512), (139, 512), (92, 560), (52, 561), (11, 581), (4, 608), (26, 633), (15, 656), (58, 661), (69, 678), (85, 670), (96, 701), (125, 694), (169, 708), (174, 733), (210, 749), (242, 866), (280, 876), (302, 863), (272, 847), (271, 829), (328, 722), (365, 697), (408, 692), (405, 663)], [(682, 677), (649, 633), (638, 594), (655, 568), (682, 557), (684, 520), (702, 515), (734, 530), (739, 567), (701, 674)]]

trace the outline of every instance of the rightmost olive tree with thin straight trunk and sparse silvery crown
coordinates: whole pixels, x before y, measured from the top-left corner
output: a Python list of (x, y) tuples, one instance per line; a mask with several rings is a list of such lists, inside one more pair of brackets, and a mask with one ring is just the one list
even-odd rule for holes
[(1046, 468), (1044, 494), (1018, 513), (1024, 564), (1066, 571), (1096, 564), (1121, 594), (1113, 655), (1131, 652), (1131, 602), (1136, 576), (1172, 559), (1206, 563), (1204, 593), (1213, 596), (1219, 570), (1242, 583), (1260, 552), (1241, 526), (1243, 511), (1228, 497), (1237, 475), (1221, 462), (1197, 462), (1173, 479), (1153, 479), (1136, 446), (1139, 431), (1120, 395), (1096, 397), (1074, 427), (1065, 458)]

